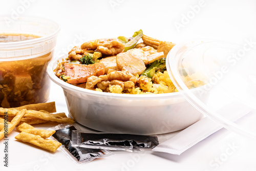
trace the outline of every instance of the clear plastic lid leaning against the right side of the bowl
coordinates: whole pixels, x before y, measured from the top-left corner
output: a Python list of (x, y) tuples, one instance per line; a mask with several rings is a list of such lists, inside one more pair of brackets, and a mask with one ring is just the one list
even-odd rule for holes
[[(176, 88), (205, 116), (226, 129), (256, 139), (256, 51), (245, 39), (235, 45), (188, 40), (168, 54), (166, 68)], [(200, 82), (198, 91), (189, 91)], [(205, 96), (207, 99), (205, 99)]]

